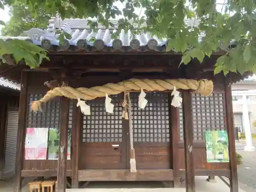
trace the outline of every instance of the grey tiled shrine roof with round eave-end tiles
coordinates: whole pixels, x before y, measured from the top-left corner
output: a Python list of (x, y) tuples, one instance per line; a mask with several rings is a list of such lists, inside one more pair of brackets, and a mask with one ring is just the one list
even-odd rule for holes
[[(141, 33), (131, 37), (131, 31), (127, 33), (124, 30), (118, 35), (118, 38), (111, 38), (112, 33), (117, 29), (117, 20), (111, 21), (115, 27), (104, 29), (103, 26), (98, 27), (98, 31), (92, 31), (86, 19), (51, 19), (47, 30), (30, 29), (25, 33), (28, 37), (15, 37), (19, 39), (27, 39), (33, 41), (34, 44), (41, 46), (48, 50), (103, 50), (103, 51), (165, 51), (167, 39), (159, 39), (156, 36), (151, 36), (150, 33)], [(198, 25), (194, 19), (185, 21), (187, 25)], [(59, 45), (58, 34), (55, 30), (61, 28), (63, 31), (71, 34), (71, 39), (66, 39), (64, 45)], [(199, 36), (199, 41), (204, 34)], [(0, 38), (13, 38), (13, 37), (0, 37)]]

